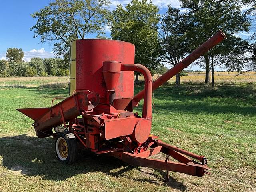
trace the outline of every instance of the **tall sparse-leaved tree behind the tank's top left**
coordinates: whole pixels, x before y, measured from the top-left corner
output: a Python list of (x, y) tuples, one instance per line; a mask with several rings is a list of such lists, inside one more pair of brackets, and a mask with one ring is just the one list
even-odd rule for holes
[(57, 56), (67, 56), (70, 41), (104, 34), (109, 4), (109, 0), (55, 0), (31, 15), (37, 21), (30, 29), (41, 42), (54, 42)]

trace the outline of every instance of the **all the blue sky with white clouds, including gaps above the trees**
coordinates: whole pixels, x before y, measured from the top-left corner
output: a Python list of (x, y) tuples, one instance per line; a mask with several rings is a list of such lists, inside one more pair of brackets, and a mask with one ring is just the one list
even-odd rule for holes
[[(52, 53), (53, 45), (46, 42), (41, 43), (40, 38), (33, 38), (34, 32), (30, 30), (36, 20), (31, 14), (44, 8), (50, 0), (0, 0), (0, 59), (6, 56), (7, 48), (22, 48), (24, 51), (24, 60), (30, 61), (32, 57), (49, 58), (55, 57)], [(111, 0), (110, 10), (114, 10), (116, 5), (125, 6), (130, 0)], [(159, 13), (164, 14), (168, 5), (178, 8), (178, 0), (152, 0), (153, 4), (159, 8)], [(236, 34), (237, 36), (248, 36), (249, 34)], [(106, 30), (106, 36), (110, 36), (109, 30)], [(88, 36), (88, 38), (95, 38)]]

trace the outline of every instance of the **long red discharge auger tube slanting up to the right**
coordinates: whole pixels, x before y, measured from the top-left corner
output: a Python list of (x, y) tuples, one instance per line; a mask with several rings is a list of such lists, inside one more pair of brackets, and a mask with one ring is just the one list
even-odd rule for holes
[[(226, 39), (226, 35), (222, 30), (219, 30), (214, 36), (208, 39), (204, 44), (194, 50), (190, 55), (184, 58), (181, 62), (176, 64), (173, 68), (168, 70), (165, 74), (160, 76), (152, 83), (152, 91), (160, 87), (162, 84), (167, 82), (170, 78), (176, 75), (178, 72), (182, 71), (184, 68), (188, 67), (192, 62), (197, 60), (200, 56), (208, 52), (212, 47), (216, 46), (222, 40)], [(140, 100), (144, 98), (145, 89), (136, 94), (132, 100), (132, 105), (137, 106)]]

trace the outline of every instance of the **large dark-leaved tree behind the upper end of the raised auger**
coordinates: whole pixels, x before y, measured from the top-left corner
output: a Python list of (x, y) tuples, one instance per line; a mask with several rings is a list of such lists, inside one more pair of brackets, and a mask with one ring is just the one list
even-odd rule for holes
[[(181, 2), (182, 7), (187, 8), (193, 18), (193, 26), (189, 33), (192, 39), (191, 50), (208, 40), (218, 29), (222, 29), (228, 38), (234, 33), (249, 30), (250, 22), (246, 14), (241, 12), (239, 0), (181, 0)], [(210, 81), (210, 57), (214, 61), (214, 56), (220, 54), (220, 46), (221, 44), (204, 54), (205, 83)]]

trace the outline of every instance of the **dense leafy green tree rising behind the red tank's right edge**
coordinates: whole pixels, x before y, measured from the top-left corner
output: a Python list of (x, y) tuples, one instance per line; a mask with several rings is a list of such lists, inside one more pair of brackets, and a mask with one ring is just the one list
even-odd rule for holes
[(161, 67), (157, 60), (159, 19), (157, 6), (146, 0), (132, 0), (125, 8), (118, 5), (111, 17), (111, 37), (134, 44), (135, 62), (144, 64), (151, 72)]

